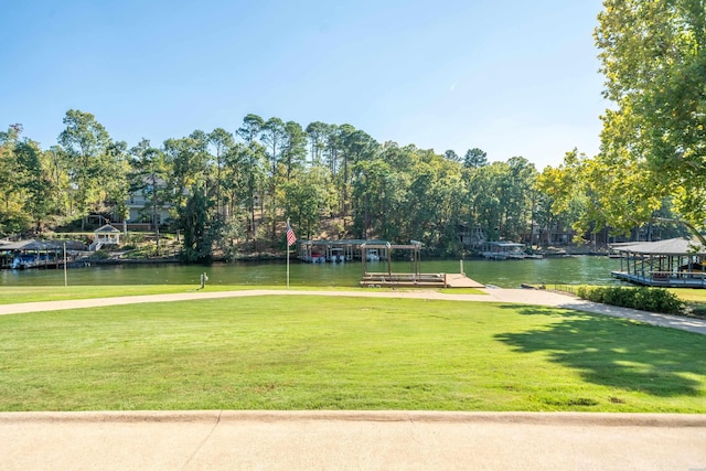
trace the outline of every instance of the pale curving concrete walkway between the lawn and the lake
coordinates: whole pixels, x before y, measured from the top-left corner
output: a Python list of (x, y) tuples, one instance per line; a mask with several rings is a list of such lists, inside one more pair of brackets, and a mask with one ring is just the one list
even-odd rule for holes
[[(26, 312), (56, 311), (63, 309), (97, 308), (106, 306), (135, 304), (142, 302), (170, 302), (196, 299), (218, 299), (248, 296), (341, 296), (377, 297), (406, 299), (439, 299), (449, 301), (510, 302), (532, 306), (549, 306), (575, 309), (605, 315), (633, 319), (653, 325), (681, 329), (706, 334), (706, 320), (681, 315), (657, 314), (634, 309), (589, 302), (574, 296), (534, 289), (485, 289), (484, 295), (452, 295), (435, 290), (359, 290), (359, 291), (299, 291), (299, 290), (242, 290), (242, 291), (190, 291), (172, 295), (126, 296), (120, 298), (76, 299), (68, 301), (26, 302), (21, 304), (0, 304), (0, 315)], [(706, 470), (705, 470), (706, 471)]]

